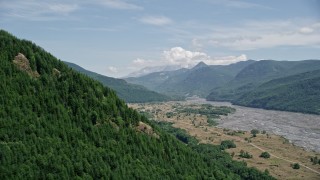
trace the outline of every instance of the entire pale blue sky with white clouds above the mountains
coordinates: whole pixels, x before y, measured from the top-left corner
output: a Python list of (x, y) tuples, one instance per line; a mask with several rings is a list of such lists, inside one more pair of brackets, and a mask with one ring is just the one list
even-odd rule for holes
[(200, 61), (320, 59), (319, 0), (0, 0), (0, 28), (112, 77)]

